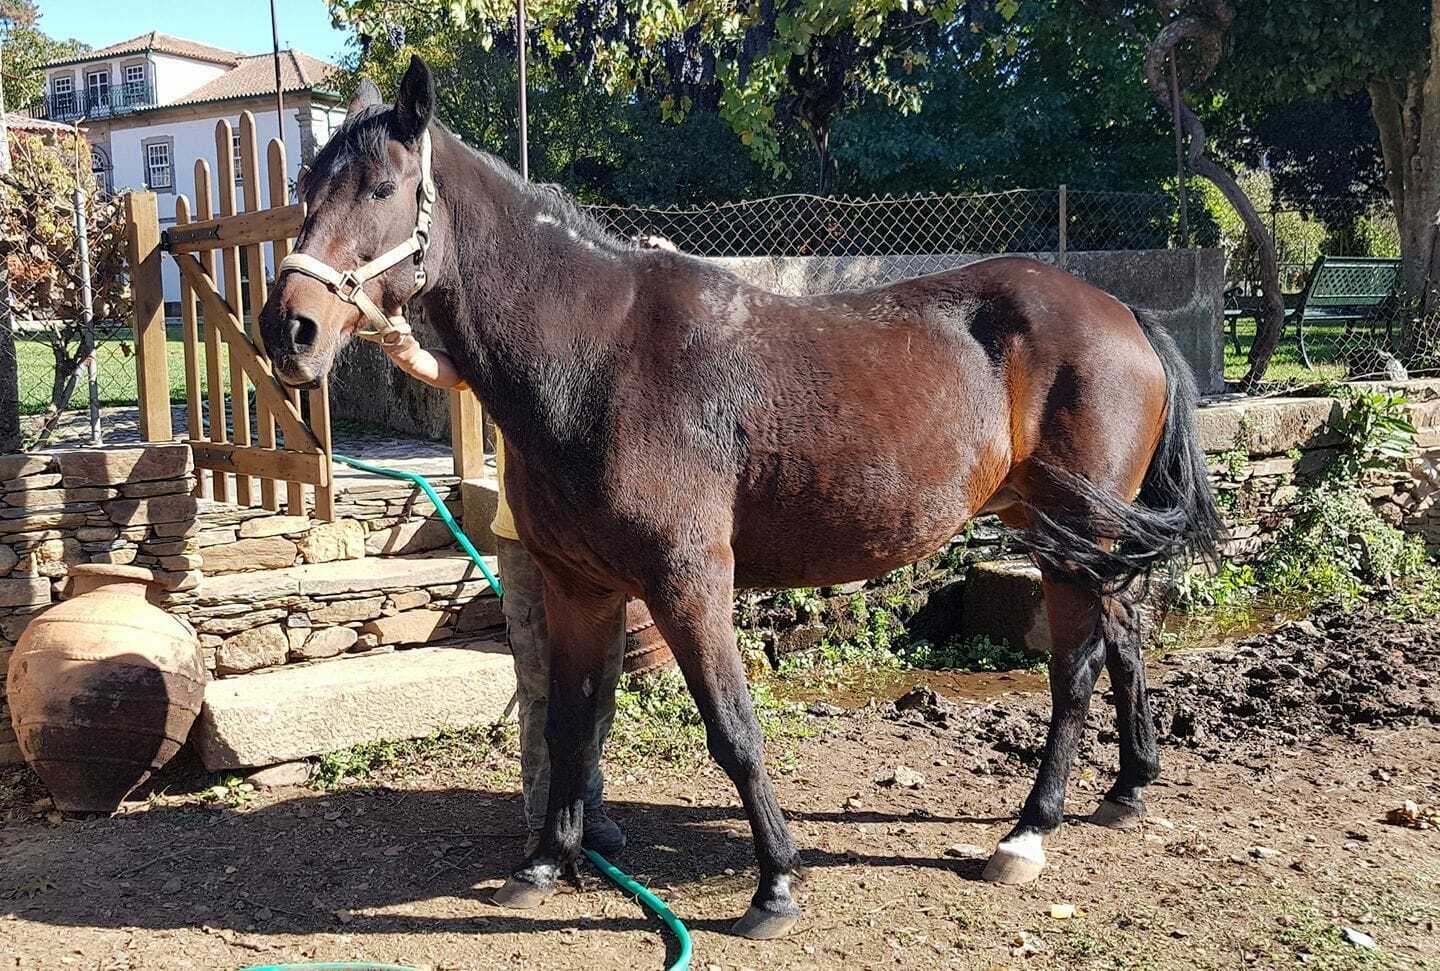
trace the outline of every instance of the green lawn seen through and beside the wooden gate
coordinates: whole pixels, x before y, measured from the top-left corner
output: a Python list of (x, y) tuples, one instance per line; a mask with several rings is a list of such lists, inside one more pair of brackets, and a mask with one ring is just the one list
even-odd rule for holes
[[(135, 347), (130, 328), (114, 328), (114, 336), (101, 337), (95, 344), (96, 379), (102, 408), (134, 405), (135, 393)], [(204, 331), (200, 333), (200, 388), (207, 390), (204, 372)], [(50, 385), (55, 376), (55, 356), (43, 340), (27, 339), (23, 334), (16, 341), (20, 370), (20, 413), (39, 415), (50, 406)], [(166, 366), (170, 375), (170, 401), (184, 401), (184, 344), (180, 340), (180, 324), (166, 327)], [(220, 353), (222, 382), (229, 388), (229, 354)], [(89, 406), (89, 388), (81, 375), (71, 395), (71, 408)]]

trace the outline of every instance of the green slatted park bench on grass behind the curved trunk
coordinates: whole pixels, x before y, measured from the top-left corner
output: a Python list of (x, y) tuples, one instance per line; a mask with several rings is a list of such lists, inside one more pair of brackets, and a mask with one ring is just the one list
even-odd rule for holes
[[(1310, 268), (1305, 290), (1283, 294), (1286, 323), (1295, 323), (1295, 336), (1300, 347), (1300, 363), (1312, 367), (1310, 353), (1305, 344), (1306, 324), (1345, 324), (1349, 334), (1355, 324), (1368, 323), (1374, 327), (1385, 321), (1385, 336), (1394, 320), (1394, 298), (1400, 282), (1400, 261), (1384, 256), (1320, 256)], [(1237, 321), (1253, 317), (1257, 321), (1264, 313), (1264, 298), (1225, 294), (1225, 323), (1236, 353), (1241, 353)]]

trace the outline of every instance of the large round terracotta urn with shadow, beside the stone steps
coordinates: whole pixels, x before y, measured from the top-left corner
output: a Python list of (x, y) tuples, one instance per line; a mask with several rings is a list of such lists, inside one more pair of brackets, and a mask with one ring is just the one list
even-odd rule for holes
[(24, 628), (6, 690), (20, 753), (66, 813), (114, 813), (200, 712), (194, 632), (145, 599), (138, 566), (71, 569), (71, 599)]

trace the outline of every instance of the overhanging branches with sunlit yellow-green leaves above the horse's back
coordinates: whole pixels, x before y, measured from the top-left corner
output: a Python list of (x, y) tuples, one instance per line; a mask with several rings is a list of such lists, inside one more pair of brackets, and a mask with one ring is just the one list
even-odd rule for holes
[[(500, 0), (330, 0), (337, 23), (382, 36), (406, 13), (451, 17), (488, 48), (514, 30)], [(924, 71), (946, 32), (981, 30), (1015, 16), (1020, 0), (760, 0), (622, 4), (536, 0), (527, 33), (557, 73), (580, 71), (606, 91), (660, 98), (667, 118), (716, 109), (752, 154), (786, 169), (785, 125), (796, 125), (815, 156), (818, 187), (834, 183), (831, 134), (868, 98), (919, 108)]]

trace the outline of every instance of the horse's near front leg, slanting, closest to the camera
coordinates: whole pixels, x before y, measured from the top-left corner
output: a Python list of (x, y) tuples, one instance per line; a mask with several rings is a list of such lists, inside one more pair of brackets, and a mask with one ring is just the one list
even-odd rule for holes
[(703, 562), (658, 578), (645, 602), (696, 697), (710, 755), (734, 782), (750, 820), (760, 885), (733, 929), (755, 941), (783, 936), (801, 916), (791, 893), (799, 854), (765, 769), (765, 736), (736, 647), (729, 549), (711, 549)]

